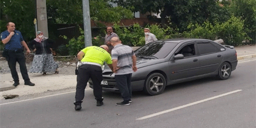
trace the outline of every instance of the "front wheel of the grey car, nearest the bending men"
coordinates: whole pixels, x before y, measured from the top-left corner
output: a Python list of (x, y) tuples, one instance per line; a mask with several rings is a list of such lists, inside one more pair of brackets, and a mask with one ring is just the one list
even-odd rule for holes
[(153, 73), (146, 79), (143, 90), (150, 95), (157, 95), (163, 93), (165, 86), (165, 77), (160, 73)]

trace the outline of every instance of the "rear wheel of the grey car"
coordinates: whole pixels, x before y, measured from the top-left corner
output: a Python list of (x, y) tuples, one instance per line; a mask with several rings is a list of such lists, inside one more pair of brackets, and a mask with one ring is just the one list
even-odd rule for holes
[(231, 75), (231, 71), (232, 71), (232, 68), (229, 65), (229, 63), (223, 62), (219, 67), (218, 78), (222, 80), (228, 79)]

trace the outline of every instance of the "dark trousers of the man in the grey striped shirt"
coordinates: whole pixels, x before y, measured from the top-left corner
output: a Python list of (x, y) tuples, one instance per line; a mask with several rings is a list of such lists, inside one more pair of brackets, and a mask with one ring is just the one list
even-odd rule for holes
[(130, 100), (132, 97), (131, 78), (132, 74), (115, 75), (117, 87), (124, 101)]

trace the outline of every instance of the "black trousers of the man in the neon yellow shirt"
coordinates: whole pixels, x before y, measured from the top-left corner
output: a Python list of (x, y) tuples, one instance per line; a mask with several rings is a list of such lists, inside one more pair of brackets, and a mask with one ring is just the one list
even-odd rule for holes
[(102, 87), (100, 85), (102, 77), (102, 69), (100, 66), (95, 65), (82, 65), (78, 68), (77, 84), (76, 84), (76, 102), (82, 102), (84, 99), (84, 90), (89, 81), (92, 79), (93, 94), (97, 101), (102, 101)]

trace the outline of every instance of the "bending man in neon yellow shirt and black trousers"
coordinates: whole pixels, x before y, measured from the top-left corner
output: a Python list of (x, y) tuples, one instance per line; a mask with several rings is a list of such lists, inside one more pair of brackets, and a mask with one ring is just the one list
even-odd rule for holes
[(82, 65), (79, 66), (77, 74), (75, 110), (82, 108), (81, 103), (84, 99), (84, 90), (89, 78), (92, 79), (93, 94), (97, 100), (97, 106), (103, 105), (102, 87), (100, 85), (103, 79), (101, 69), (103, 62), (105, 61), (113, 71), (111, 55), (107, 51), (107, 45), (101, 45), (100, 47), (88, 46), (77, 54), (77, 58), (81, 60)]

